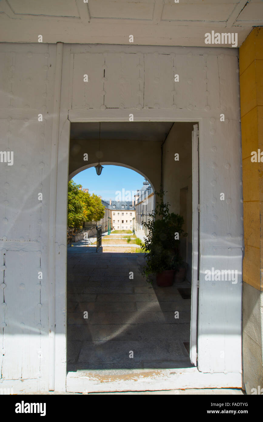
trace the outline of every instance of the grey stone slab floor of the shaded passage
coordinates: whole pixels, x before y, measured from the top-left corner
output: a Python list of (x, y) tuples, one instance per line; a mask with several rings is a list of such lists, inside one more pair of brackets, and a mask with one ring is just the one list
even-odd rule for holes
[(193, 366), (184, 346), (191, 300), (177, 290), (190, 284), (150, 285), (139, 272), (144, 263), (135, 253), (68, 254), (67, 371)]

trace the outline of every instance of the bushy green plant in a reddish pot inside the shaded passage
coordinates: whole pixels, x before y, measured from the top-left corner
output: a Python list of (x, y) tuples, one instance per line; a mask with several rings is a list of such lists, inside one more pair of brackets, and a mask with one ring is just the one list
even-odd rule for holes
[[(180, 236), (187, 236), (182, 226), (184, 219), (179, 214), (169, 212), (169, 203), (164, 203), (164, 191), (155, 192), (160, 198), (154, 211), (150, 212), (150, 219), (144, 222), (148, 229), (145, 238), (144, 251), (146, 265), (142, 274), (146, 276), (149, 283), (151, 275), (156, 274), (158, 286), (171, 286), (174, 280), (174, 273), (183, 264), (179, 252)], [(178, 233), (178, 235), (177, 235)]]

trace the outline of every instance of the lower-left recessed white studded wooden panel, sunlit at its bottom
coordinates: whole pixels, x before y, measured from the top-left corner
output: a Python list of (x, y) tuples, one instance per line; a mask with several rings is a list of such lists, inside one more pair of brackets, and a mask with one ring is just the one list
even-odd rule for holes
[[(32, 378), (38, 373), (40, 348), (36, 252), (5, 253), (5, 323), (2, 373), (4, 379)], [(29, 306), (30, 302), (30, 306)], [(14, 347), (14, 338), (16, 345)]]

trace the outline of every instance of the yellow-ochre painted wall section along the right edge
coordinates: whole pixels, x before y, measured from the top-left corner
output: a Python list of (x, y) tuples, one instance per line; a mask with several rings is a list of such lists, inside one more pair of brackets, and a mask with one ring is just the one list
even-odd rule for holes
[(240, 47), (239, 69), (245, 243), (243, 280), (263, 290), (263, 162), (251, 162), (252, 151), (263, 151), (263, 27), (254, 28)]

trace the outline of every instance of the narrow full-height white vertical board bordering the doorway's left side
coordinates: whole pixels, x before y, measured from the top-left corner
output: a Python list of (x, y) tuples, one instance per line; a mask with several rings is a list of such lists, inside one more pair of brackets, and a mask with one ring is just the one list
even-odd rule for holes
[(70, 122), (67, 119), (67, 100), (70, 90), (70, 46), (63, 46), (63, 67), (61, 76), (61, 106), (59, 111), (59, 133), (56, 163), (56, 197), (52, 218), (54, 226), (55, 265), (55, 382), (56, 391), (65, 391), (67, 375), (67, 181), (70, 143)]

